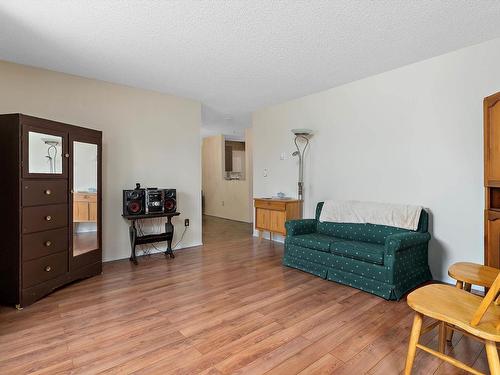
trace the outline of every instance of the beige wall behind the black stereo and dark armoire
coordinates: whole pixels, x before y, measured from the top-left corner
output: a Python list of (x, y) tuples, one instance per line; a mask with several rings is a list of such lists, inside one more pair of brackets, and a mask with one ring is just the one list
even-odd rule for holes
[(0, 61), (0, 113), (15, 112), (103, 131), (104, 260), (130, 255), (122, 189), (136, 182), (177, 188), (174, 243), (184, 218), (181, 245), (201, 243), (199, 102)]

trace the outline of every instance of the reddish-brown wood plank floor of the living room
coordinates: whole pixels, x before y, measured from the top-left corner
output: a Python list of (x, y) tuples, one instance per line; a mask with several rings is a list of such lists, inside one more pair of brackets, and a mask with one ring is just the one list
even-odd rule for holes
[[(0, 308), (0, 374), (401, 372), (405, 301), (283, 267), (280, 244), (212, 237), (175, 259), (106, 263), (22, 311)], [(422, 340), (437, 347), (434, 332)], [(456, 334), (448, 350), (487, 372), (477, 342)], [(459, 372), (419, 352), (414, 373)]]

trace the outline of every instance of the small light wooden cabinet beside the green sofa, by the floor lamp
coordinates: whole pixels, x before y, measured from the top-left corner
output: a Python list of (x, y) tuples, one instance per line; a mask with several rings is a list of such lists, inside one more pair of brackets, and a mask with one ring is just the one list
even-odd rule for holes
[(300, 219), (302, 201), (296, 199), (255, 198), (255, 229), (263, 232), (286, 235), (285, 222)]

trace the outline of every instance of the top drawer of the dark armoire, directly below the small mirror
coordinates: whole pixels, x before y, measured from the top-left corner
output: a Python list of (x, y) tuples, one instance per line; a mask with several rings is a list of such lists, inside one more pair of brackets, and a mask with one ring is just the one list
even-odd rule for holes
[(66, 180), (23, 180), (22, 204), (41, 206), (68, 201), (68, 183)]

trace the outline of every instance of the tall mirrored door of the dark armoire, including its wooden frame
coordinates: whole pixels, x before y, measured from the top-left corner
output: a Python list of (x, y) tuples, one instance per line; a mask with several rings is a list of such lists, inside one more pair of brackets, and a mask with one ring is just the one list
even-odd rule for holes
[(71, 269), (101, 262), (101, 139), (70, 132)]

